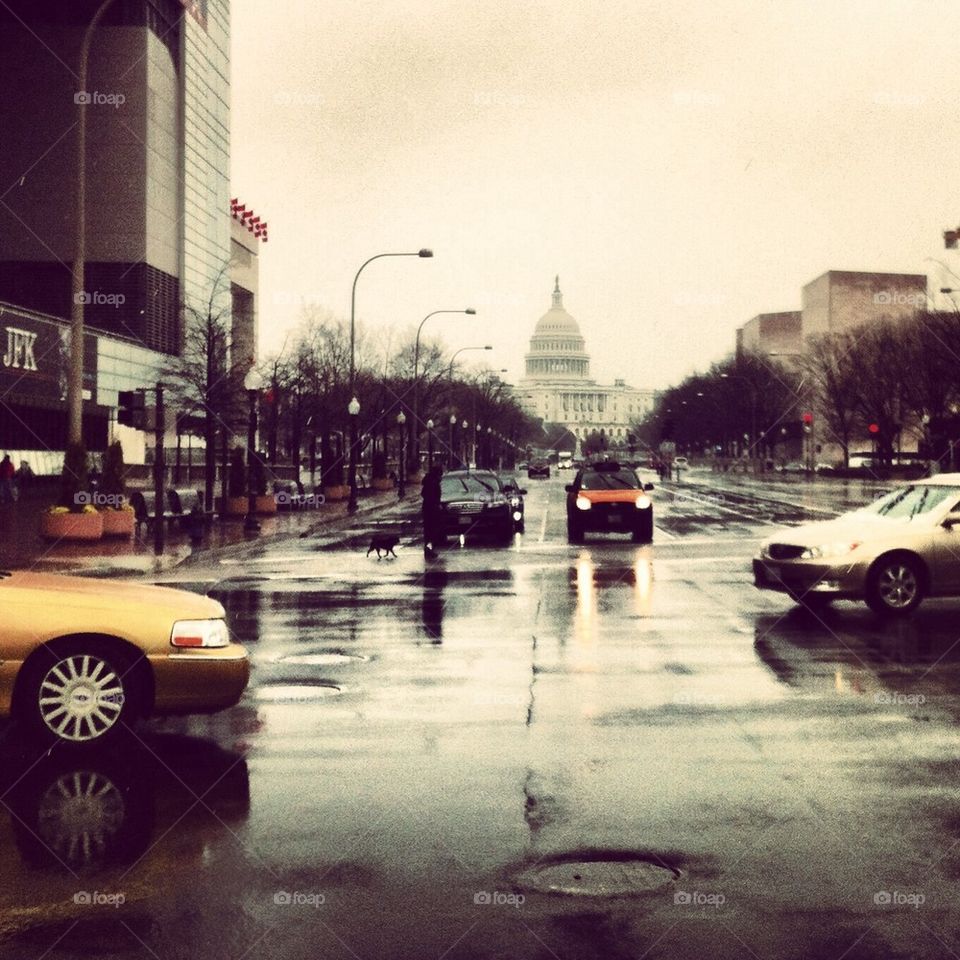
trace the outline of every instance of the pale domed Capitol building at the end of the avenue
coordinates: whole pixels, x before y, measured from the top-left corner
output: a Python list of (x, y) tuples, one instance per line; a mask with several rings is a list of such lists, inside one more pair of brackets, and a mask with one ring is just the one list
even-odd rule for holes
[(601, 386), (590, 379), (590, 354), (579, 324), (563, 308), (559, 277), (525, 359), (526, 373), (517, 387), (524, 411), (546, 425), (562, 424), (578, 441), (596, 431), (611, 446), (625, 445), (630, 425), (653, 409), (652, 390), (638, 390), (624, 380)]

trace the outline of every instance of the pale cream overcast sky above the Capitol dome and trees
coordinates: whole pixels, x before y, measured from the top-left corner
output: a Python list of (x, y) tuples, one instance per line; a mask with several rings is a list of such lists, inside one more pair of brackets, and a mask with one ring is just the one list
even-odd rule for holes
[[(560, 274), (601, 382), (664, 387), (828, 269), (960, 273), (956, 0), (237, 0), (233, 193), (301, 300), (431, 310), (522, 374)], [(953, 279), (957, 286), (960, 281)], [(478, 355), (479, 356), (479, 355)]]

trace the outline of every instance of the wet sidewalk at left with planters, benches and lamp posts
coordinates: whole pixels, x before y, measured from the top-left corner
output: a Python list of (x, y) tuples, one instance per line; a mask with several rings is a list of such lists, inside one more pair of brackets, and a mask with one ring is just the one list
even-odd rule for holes
[[(407, 488), (403, 504), (417, 501), (419, 486)], [(203, 543), (194, 547), (185, 529), (169, 524), (161, 556), (154, 555), (153, 532), (141, 527), (132, 540), (100, 540), (96, 543), (49, 543), (40, 537), (40, 514), (49, 496), (26, 494), (15, 504), (0, 506), (0, 569), (31, 569), (47, 573), (84, 573), (92, 576), (143, 576), (162, 573), (187, 561), (207, 562), (224, 554), (242, 553), (265, 542), (299, 537), (301, 533), (322, 533), (347, 526), (350, 515), (346, 501), (325, 503), (307, 510), (291, 510), (273, 517), (260, 517), (260, 532), (247, 534), (243, 517), (214, 520)], [(395, 490), (361, 493), (357, 516), (375, 511), (390, 514), (398, 507)]]

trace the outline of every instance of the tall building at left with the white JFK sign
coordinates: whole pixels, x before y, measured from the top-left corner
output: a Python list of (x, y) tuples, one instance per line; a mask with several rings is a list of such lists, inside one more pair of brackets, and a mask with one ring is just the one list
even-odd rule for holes
[[(90, 33), (81, 90), (82, 39), (100, 4), (0, 4), (0, 303), (7, 317), (19, 311), (16, 322), (38, 344), (68, 342), (67, 331), (54, 336), (49, 325), (71, 313), (82, 109), (85, 440), (102, 448), (112, 429), (136, 457), (142, 438), (108, 427), (118, 390), (159, 379), (182, 350), (184, 306), (202, 312), (212, 298), (216, 312), (229, 310), (238, 286), (255, 288), (256, 261), (249, 243), (231, 237), (229, 0), (114, 0)], [(238, 256), (246, 258), (239, 283), (230, 266)], [(234, 339), (252, 355), (256, 311), (240, 307)], [(24, 449), (5, 436), (5, 425), (18, 424), (31, 448), (62, 450), (65, 395), (52, 387), (61, 375), (48, 371), (40, 403), (26, 386), (35, 372), (0, 367), (0, 445)]]

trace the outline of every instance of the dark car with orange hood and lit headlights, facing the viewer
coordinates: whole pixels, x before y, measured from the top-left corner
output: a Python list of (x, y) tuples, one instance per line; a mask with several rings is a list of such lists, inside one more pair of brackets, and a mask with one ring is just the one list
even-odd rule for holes
[(636, 543), (653, 540), (652, 483), (612, 460), (587, 464), (567, 484), (567, 539), (583, 543), (590, 531), (629, 533)]

